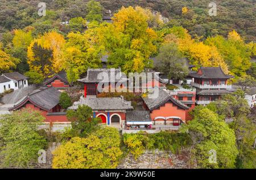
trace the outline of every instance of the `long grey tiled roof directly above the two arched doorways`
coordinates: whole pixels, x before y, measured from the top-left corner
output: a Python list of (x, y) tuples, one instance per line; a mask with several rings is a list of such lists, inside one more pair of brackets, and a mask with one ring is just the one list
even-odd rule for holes
[(87, 105), (93, 110), (126, 110), (133, 109), (131, 101), (125, 101), (121, 97), (87, 97), (80, 98), (80, 101), (74, 102), (68, 109), (77, 109), (79, 105)]

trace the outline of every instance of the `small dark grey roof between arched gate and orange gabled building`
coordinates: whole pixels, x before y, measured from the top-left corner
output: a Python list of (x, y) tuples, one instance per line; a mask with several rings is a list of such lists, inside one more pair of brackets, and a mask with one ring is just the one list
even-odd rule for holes
[(126, 112), (126, 121), (152, 121), (150, 112), (146, 110), (132, 110)]

